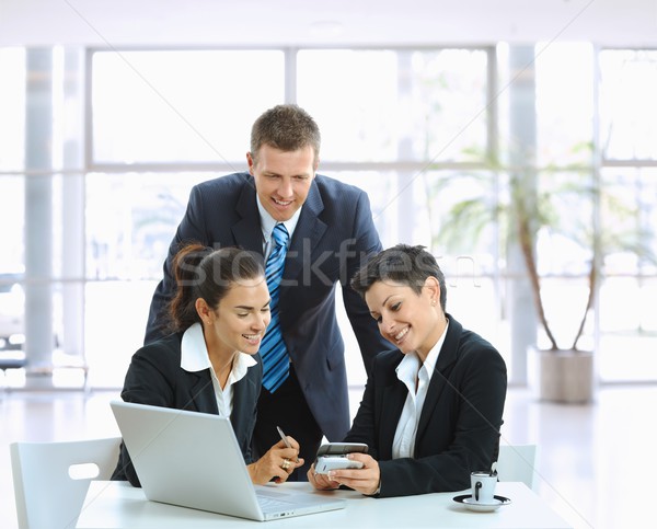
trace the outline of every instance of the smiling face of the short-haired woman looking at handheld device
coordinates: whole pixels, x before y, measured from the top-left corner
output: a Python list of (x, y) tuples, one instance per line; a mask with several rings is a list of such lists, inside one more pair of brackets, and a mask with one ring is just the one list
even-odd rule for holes
[(365, 294), (381, 335), (405, 355), (416, 350), (423, 360), (442, 333), (440, 287), (427, 278), (419, 295), (406, 285), (377, 281)]

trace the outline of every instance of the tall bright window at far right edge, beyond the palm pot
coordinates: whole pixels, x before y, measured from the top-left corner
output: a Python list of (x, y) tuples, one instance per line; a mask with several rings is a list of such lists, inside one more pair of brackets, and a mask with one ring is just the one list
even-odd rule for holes
[(600, 376), (657, 379), (657, 51), (603, 49), (600, 68)]

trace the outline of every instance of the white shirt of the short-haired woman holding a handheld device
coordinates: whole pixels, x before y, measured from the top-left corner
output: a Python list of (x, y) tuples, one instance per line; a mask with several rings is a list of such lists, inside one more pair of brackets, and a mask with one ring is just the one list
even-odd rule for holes
[(431, 381), (434, 368), (436, 367), (440, 348), (447, 335), (448, 325), (449, 322), (445, 326), (445, 331), (436, 345), (429, 350), (424, 364), (420, 364), (417, 353), (413, 352), (405, 355), (395, 369), (397, 378), (408, 389), (408, 395), (406, 396), (406, 402), (404, 402), (404, 409), (402, 410), (402, 415), (394, 433), (394, 440), (392, 442), (393, 459), (412, 458), (415, 453), (415, 437), (417, 435), (422, 406), (427, 396), (429, 382)]

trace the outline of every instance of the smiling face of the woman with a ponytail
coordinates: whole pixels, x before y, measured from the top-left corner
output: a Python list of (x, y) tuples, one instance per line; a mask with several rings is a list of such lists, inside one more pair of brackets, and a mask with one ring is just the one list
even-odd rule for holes
[(264, 277), (234, 283), (206, 325), (208, 349), (255, 355), (269, 324), (269, 290)]

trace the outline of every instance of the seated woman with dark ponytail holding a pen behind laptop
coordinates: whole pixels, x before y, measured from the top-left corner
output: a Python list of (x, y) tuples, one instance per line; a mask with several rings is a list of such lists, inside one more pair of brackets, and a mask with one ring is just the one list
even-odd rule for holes
[[(255, 462), (250, 449), (263, 378), (257, 352), (270, 319), (263, 265), (237, 248), (189, 244), (174, 266), (171, 334), (135, 353), (122, 399), (229, 416), (253, 483), (286, 481), (303, 464), (293, 438), (292, 448), (281, 440)], [(112, 479), (140, 486), (123, 444)]]

